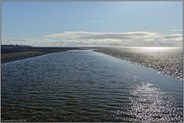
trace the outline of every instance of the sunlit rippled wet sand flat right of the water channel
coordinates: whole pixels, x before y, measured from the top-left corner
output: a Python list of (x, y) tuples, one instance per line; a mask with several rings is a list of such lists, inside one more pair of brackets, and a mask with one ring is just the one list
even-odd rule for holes
[(183, 79), (182, 48), (96, 48), (96, 51)]

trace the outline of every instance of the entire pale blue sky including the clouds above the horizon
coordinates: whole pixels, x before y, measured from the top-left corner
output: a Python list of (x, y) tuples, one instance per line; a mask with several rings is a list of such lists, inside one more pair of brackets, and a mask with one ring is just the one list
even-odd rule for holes
[(182, 46), (182, 1), (3, 2), (2, 44)]

